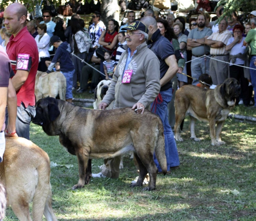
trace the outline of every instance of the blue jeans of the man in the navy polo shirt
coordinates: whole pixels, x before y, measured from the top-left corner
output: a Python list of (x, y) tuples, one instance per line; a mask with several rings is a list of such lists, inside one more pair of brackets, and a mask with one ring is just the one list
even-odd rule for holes
[[(172, 100), (172, 88), (161, 91), (160, 95), (163, 98), (163, 102), (157, 104), (156, 114), (162, 120), (163, 128), (164, 128), (164, 139), (165, 139), (165, 151), (166, 151), (166, 161), (167, 161), (167, 170), (169, 171), (170, 167), (179, 166), (180, 160), (178, 156), (177, 146), (175, 142), (175, 138), (172, 132), (172, 128), (168, 121), (168, 103)], [(153, 104), (151, 104), (152, 107)], [(153, 107), (154, 112), (155, 107)], [(154, 154), (154, 162), (157, 166), (158, 172), (162, 172), (162, 169), (157, 161), (156, 155)]]

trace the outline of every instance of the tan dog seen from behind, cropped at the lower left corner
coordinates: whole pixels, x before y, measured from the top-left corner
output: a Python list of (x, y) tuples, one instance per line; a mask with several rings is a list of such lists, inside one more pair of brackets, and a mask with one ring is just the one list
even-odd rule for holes
[(7, 138), (0, 181), (6, 186), (8, 204), (20, 221), (57, 221), (52, 210), (50, 159), (44, 150), (25, 138)]

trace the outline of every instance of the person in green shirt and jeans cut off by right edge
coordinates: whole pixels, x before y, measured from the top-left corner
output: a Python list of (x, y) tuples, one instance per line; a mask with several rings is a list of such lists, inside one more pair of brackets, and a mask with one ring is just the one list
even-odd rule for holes
[[(248, 32), (246, 38), (244, 39), (243, 45), (246, 46), (250, 44), (251, 48), (251, 60), (250, 68), (255, 69), (254, 62), (256, 60), (256, 17), (250, 19), (252, 29)], [(256, 108), (256, 70), (250, 69), (251, 83), (254, 90), (254, 106), (251, 108)]]

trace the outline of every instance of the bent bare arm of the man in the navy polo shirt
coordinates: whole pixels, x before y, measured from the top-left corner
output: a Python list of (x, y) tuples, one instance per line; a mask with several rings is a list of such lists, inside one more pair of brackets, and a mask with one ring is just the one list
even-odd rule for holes
[(167, 70), (166, 74), (160, 79), (161, 86), (165, 85), (170, 80), (172, 80), (172, 77), (174, 77), (178, 71), (178, 65), (176, 62), (175, 55), (166, 57), (164, 61), (169, 66), (169, 69)]

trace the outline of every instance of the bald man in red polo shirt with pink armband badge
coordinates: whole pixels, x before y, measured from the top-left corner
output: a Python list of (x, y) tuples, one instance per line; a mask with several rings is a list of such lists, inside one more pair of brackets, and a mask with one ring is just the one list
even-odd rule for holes
[(15, 76), (12, 84), (17, 94), (16, 132), (29, 139), (29, 125), (35, 117), (35, 75), (38, 69), (38, 48), (26, 28), (27, 10), (20, 3), (12, 3), (3, 14), (7, 32), (11, 33), (6, 46)]

